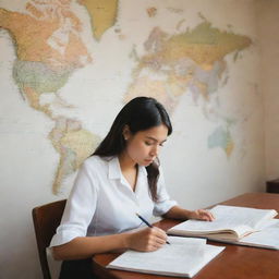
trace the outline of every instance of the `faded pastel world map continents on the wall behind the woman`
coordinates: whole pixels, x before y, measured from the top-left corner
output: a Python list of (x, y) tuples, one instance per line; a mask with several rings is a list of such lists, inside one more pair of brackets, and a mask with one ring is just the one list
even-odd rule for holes
[[(0, 8), (0, 31), (7, 31), (14, 45), (16, 60), (12, 75), (22, 97), (33, 109), (40, 111), (53, 122), (48, 138), (60, 159), (53, 179), (52, 192), (59, 193), (61, 183), (87, 158), (100, 142), (100, 137), (83, 128), (76, 118), (54, 113), (50, 102), (41, 95), (53, 95), (62, 107), (71, 107), (59, 96), (59, 90), (71, 82), (73, 72), (94, 64), (94, 54), (83, 41), (86, 26), (70, 0), (31, 0), (25, 12)], [(77, 0), (90, 19), (90, 39), (100, 41), (112, 28), (121, 12), (118, 0)], [(156, 17), (159, 8), (146, 7), (148, 17)], [(170, 13), (179, 10), (168, 8)], [(215, 97), (223, 73), (228, 70), (225, 57), (234, 56), (248, 48), (252, 40), (232, 31), (213, 27), (202, 14), (195, 27), (180, 31), (181, 21), (173, 33), (160, 26), (150, 28), (143, 49), (126, 53), (135, 61), (131, 83), (121, 98), (124, 102), (143, 95), (157, 98), (172, 113), (182, 95), (192, 92), (193, 100), (204, 100), (204, 117), (223, 118), (222, 125), (208, 135), (208, 148), (221, 148), (228, 157), (234, 149), (230, 133), (233, 121), (219, 116), (218, 106), (213, 109), (209, 101)], [(120, 31), (119, 31), (120, 32)], [(121, 39), (121, 34), (120, 34)]]

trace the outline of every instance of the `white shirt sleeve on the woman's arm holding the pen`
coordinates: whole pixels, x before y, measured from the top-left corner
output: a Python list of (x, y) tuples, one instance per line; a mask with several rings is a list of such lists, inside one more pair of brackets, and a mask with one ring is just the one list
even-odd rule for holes
[(97, 180), (85, 161), (77, 173), (50, 247), (62, 245), (77, 236), (86, 236), (87, 228), (96, 210), (97, 186)]

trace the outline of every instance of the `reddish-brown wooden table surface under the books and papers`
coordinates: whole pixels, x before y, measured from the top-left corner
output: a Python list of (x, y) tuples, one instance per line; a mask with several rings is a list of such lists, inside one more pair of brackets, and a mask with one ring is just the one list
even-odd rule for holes
[[(279, 195), (268, 193), (247, 193), (220, 203), (223, 205), (246, 206), (262, 209), (276, 209), (279, 211)], [(159, 228), (168, 230), (179, 221), (165, 219), (156, 223)], [(247, 247), (218, 242), (209, 244), (226, 246), (226, 250), (206, 265), (194, 279), (278, 279), (279, 251)], [(107, 269), (111, 260), (120, 254), (99, 254), (93, 258), (94, 272), (101, 279), (158, 279), (179, 278), (145, 275)]]

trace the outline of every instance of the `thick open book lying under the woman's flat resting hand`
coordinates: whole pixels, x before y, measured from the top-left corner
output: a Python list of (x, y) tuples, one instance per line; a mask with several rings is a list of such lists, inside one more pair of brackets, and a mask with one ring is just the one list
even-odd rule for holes
[(215, 216), (211, 222), (187, 220), (168, 230), (169, 234), (202, 236), (218, 241), (240, 241), (260, 231), (267, 220), (277, 215), (274, 209), (217, 205), (210, 209)]

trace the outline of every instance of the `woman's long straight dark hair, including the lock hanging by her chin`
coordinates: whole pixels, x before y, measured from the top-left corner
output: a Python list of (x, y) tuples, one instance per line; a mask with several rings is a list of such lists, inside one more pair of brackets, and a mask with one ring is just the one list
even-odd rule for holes
[[(163, 106), (154, 98), (136, 97), (129, 101), (118, 113), (109, 133), (99, 144), (93, 155), (100, 157), (120, 155), (126, 146), (123, 129), (129, 126), (132, 134), (154, 126), (165, 124), (168, 135), (172, 133), (172, 125)], [(157, 201), (157, 182), (159, 178), (159, 160), (146, 167), (149, 191), (153, 201)]]

